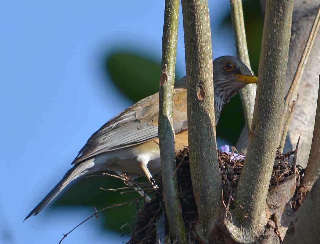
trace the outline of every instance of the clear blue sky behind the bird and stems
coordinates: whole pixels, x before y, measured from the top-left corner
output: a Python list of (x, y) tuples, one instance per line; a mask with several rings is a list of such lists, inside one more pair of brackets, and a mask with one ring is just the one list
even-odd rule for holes
[[(102, 73), (102, 55), (126, 47), (161, 61), (164, 1), (150, 3), (1, 1), (0, 243), (58, 243), (92, 213), (93, 207), (44, 209), (22, 223), (92, 133), (132, 104)], [(229, 2), (209, 6), (213, 57), (235, 55), (232, 33), (217, 27)], [(181, 14), (177, 68), (185, 73)], [(63, 243), (124, 240), (98, 221)]]

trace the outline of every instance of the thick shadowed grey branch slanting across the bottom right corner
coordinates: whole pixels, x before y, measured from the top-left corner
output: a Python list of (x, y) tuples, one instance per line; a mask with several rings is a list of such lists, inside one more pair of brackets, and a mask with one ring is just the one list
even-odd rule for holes
[(320, 239), (320, 178), (294, 215), (283, 244), (318, 243)]

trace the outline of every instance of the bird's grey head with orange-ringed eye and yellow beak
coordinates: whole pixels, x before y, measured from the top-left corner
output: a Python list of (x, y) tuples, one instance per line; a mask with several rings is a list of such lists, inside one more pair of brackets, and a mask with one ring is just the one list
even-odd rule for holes
[(257, 83), (258, 78), (239, 59), (221, 56), (213, 60), (213, 87), (215, 99), (227, 103), (245, 85)]

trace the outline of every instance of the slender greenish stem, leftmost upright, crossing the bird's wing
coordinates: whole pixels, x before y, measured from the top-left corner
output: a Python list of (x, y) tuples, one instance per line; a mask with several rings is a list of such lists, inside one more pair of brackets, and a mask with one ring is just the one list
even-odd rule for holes
[(178, 243), (187, 243), (182, 218), (174, 151), (173, 87), (177, 51), (179, 0), (166, 0), (162, 36), (162, 70), (159, 85), (159, 146), (164, 205), (170, 232)]

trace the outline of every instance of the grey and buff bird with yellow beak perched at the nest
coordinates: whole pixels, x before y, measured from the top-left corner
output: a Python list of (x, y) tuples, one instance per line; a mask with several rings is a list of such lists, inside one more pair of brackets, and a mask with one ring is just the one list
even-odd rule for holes
[[(222, 107), (241, 88), (257, 83), (258, 78), (239, 59), (221, 56), (214, 59), (213, 87), (216, 125)], [(187, 81), (182, 77), (174, 85), (173, 129), (175, 151), (188, 146)], [(131, 179), (161, 171), (158, 140), (159, 93), (140, 100), (110, 119), (88, 139), (61, 181), (28, 214), (37, 215), (71, 181), (102, 171), (125, 173)], [(148, 166), (148, 167), (147, 167)]]

